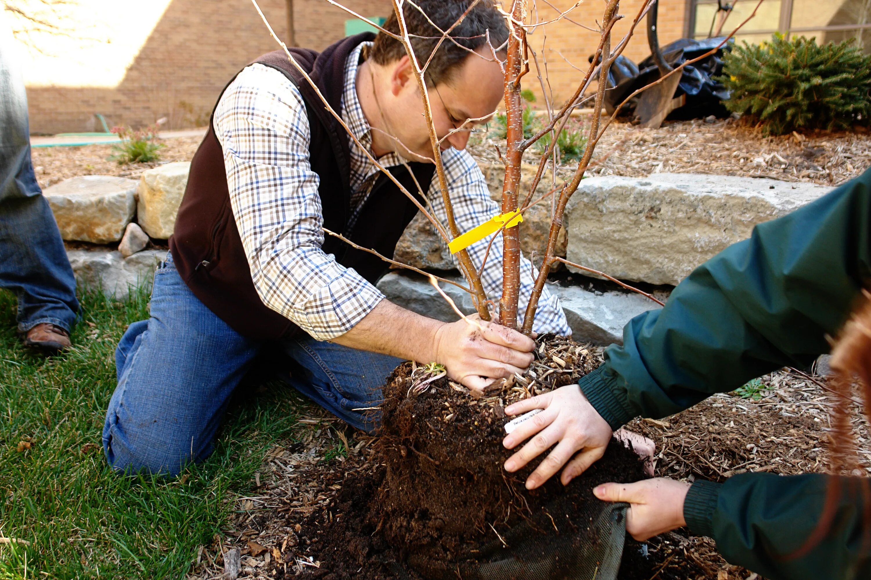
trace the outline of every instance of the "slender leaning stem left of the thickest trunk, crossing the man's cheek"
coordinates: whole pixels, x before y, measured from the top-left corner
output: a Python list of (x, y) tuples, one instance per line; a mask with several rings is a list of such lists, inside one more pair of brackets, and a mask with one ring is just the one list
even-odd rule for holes
[[(454, 217), (454, 205), (450, 200), (450, 194), (448, 191), (448, 179), (447, 177), (445, 177), (444, 174), (444, 165), (442, 164), (442, 150), (440, 148), (438, 135), (436, 135), (436, 125), (435, 123), (433, 123), (432, 106), (429, 103), (429, 90), (427, 90), (426, 78), (424, 77), (420, 63), (417, 62), (417, 57), (415, 57), (415, 50), (412, 48), (411, 41), (408, 38), (408, 27), (405, 23), (405, 16), (402, 13), (402, 2), (400, 0), (393, 0), (393, 8), (396, 14), (396, 21), (399, 25), (399, 41), (402, 43), (402, 46), (405, 47), (405, 51), (408, 53), (408, 60), (411, 63), (412, 70), (414, 70), (415, 78), (417, 79), (418, 90), (421, 91), (423, 115), (426, 119), (427, 127), (429, 128), (429, 142), (432, 145), (433, 159), (436, 162), (436, 175), (438, 175), (439, 190), (442, 192), (442, 202), (444, 203), (445, 214), (448, 217), (448, 227), (450, 230), (451, 239), (453, 239), (460, 235), (460, 230), (456, 227), (456, 218)], [(464, 16), (465, 14), (463, 14), (463, 17)], [(461, 17), (460, 19), (462, 20), (463, 17)], [(449, 239), (447, 241), (450, 242), (451, 240)], [(466, 277), (466, 280), (469, 282), (469, 286), (472, 289), (472, 301), (475, 303), (475, 308), (478, 311), (478, 314), (483, 320), (490, 320), (490, 311), (487, 310), (487, 295), (484, 292), (483, 284), (481, 283), (481, 277), (478, 276), (478, 273), (475, 270), (475, 266), (472, 265), (472, 259), (469, 257), (469, 251), (460, 250), (456, 253), (456, 257), (457, 262), (460, 265), (460, 270), (463, 272), (463, 276)]]

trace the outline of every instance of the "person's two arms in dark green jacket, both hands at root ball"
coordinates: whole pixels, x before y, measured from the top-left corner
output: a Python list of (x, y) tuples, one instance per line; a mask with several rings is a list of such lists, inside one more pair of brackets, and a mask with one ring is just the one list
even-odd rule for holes
[[(556, 447), (526, 482), (565, 465), (569, 483), (602, 457), (633, 417), (667, 417), (783, 366), (807, 367), (830, 349), (871, 282), (871, 170), (787, 216), (760, 223), (694, 270), (665, 308), (633, 318), (623, 346), (570, 385), (515, 403), (542, 409), (505, 437), (516, 471)], [(580, 451), (579, 453), (577, 453)], [(576, 455), (577, 453), (577, 455)], [(594, 492), (631, 504), (626, 530), (644, 540), (688, 526), (730, 563), (773, 580), (871, 578), (871, 487), (866, 478), (745, 473), (723, 483), (655, 478)], [(824, 514), (827, 490), (840, 490)], [(821, 521), (825, 516), (825, 521)]]

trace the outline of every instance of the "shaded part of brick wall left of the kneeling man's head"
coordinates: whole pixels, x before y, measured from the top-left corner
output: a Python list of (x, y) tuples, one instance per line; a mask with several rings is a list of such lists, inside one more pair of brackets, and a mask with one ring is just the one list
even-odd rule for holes
[[(285, 0), (259, 3), (284, 38)], [(387, 16), (391, 10), (389, 0), (345, 4), (365, 16)], [(323, 49), (344, 37), (350, 16), (323, 0), (295, 0), (294, 17), (297, 43)], [(28, 87), (30, 131), (99, 130), (94, 113), (103, 114), (110, 126), (137, 127), (160, 117), (167, 117), (172, 129), (201, 126), (227, 81), (245, 63), (277, 48), (248, 0), (172, 0), (117, 87)]]

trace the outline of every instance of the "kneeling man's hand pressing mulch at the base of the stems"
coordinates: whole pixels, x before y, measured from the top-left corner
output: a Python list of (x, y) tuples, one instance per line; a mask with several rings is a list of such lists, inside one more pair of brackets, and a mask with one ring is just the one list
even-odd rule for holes
[(436, 363), (448, 377), (469, 389), (483, 390), (496, 379), (523, 374), (533, 360), (536, 343), (517, 330), (481, 320), (447, 323), (436, 331)]

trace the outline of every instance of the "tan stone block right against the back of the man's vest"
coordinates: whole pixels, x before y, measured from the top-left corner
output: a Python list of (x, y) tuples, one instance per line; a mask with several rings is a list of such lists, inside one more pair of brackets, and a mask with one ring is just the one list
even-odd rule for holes
[(159, 240), (172, 236), (190, 169), (190, 162), (179, 161), (143, 172), (137, 190), (137, 221), (149, 236)]

